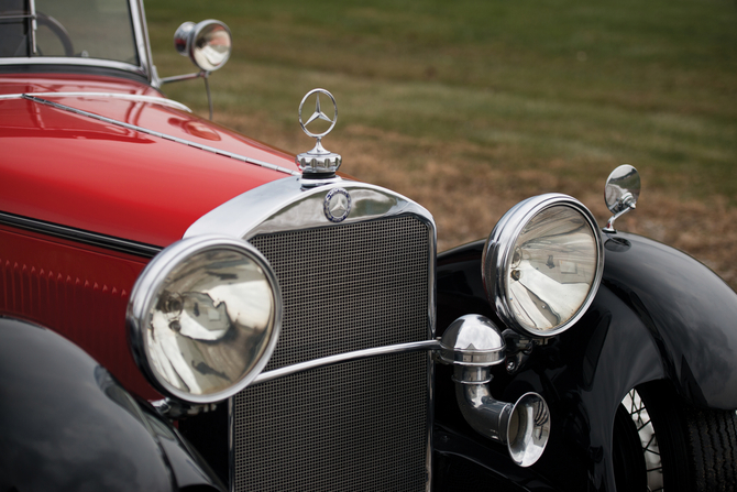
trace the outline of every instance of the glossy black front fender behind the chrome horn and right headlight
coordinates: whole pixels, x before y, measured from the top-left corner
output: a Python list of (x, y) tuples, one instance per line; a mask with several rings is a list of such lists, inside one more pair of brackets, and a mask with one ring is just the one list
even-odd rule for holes
[[(735, 407), (737, 362), (729, 353), (737, 348), (737, 295), (672, 248), (634, 234), (603, 239), (604, 277), (582, 319), (536, 347), (513, 374), (503, 365), (493, 370), (496, 398), (515, 402), (536, 391), (548, 402), (552, 428), (542, 458), (530, 469), (517, 470), (490, 460), (505, 450), (465, 424), (451, 370), (443, 365), (436, 376), (440, 455), (463, 455), (480, 474), (496, 474), (527, 490), (614, 490), (614, 415), (630, 389), (670, 380), (694, 404)], [(470, 313), (487, 316), (504, 329), (484, 293), (483, 245), (477, 241), (438, 256), (439, 335)]]

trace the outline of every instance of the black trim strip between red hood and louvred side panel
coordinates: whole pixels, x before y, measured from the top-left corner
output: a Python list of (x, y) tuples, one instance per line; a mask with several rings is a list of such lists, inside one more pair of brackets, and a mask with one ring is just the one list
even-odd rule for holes
[(58, 223), (44, 222), (43, 220), (30, 219), (28, 217), (2, 211), (0, 211), (0, 225), (16, 227), (31, 232), (38, 232), (108, 250), (120, 251), (135, 256), (153, 258), (162, 250), (162, 248), (153, 244), (129, 241), (127, 239), (99, 234), (97, 232), (75, 229), (67, 226), (59, 226)]

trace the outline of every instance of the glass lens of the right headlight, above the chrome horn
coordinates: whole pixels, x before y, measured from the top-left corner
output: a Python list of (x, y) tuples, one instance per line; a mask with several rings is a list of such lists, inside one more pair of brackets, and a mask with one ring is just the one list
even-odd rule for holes
[(594, 232), (576, 210), (550, 207), (517, 238), (508, 269), (509, 305), (528, 328), (552, 330), (583, 305), (596, 276)]

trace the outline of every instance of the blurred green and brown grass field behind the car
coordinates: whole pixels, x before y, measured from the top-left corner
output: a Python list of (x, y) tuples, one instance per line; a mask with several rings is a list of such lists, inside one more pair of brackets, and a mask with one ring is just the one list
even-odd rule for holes
[[(530, 195), (608, 217), (608, 173), (642, 176), (619, 229), (675, 245), (737, 286), (737, 3), (726, 0), (146, 2), (162, 76), (191, 72), (179, 23), (220, 19), (216, 121), (294, 153), (297, 107), (338, 99), (342, 171), (436, 217), (441, 249), (486, 237)], [(201, 81), (166, 86), (207, 111)]]

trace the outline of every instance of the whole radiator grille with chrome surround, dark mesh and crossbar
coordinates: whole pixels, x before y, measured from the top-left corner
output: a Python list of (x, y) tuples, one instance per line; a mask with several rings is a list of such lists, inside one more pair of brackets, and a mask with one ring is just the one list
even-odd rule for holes
[(323, 212), (333, 185), (287, 177), (185, 234), (248, 239), (284, 298), (268, 373), (229, 401), (233, 491), (431, 486), (435, 225), (392, 192), (340, 185), (340, 223)]

